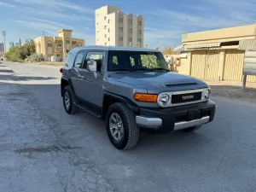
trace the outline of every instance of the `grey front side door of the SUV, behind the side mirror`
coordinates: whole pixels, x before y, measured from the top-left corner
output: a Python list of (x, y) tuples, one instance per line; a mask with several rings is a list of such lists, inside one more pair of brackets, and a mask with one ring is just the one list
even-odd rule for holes
[[(102, 107), (102, 81), (103, 81), (103, 55), (101, 51), (88, 51), (83, 64), (83, 84), (82, 89), (84, 99), (96, 107)], [(97, 72), (90, 72), (87, 68), (87, 61), (97, 62)]]

